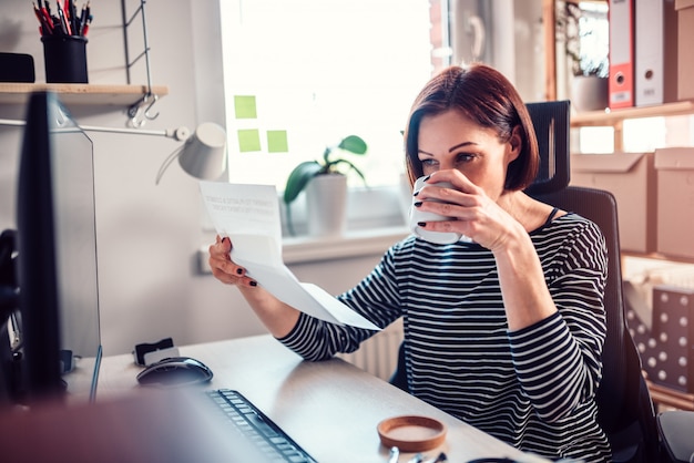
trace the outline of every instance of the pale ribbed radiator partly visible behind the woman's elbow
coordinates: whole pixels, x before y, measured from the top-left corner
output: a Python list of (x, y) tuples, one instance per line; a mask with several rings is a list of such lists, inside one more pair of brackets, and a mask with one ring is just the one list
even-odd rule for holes
[(388, 381), (398, 364), (398, 348), (401, 341), (402, 321), (399, 320), (363, 342), (355, 352), (341, 353), (338, 357)]

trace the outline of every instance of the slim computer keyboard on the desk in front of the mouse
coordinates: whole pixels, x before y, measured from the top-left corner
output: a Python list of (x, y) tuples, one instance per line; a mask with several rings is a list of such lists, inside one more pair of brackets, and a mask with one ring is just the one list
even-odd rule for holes
[(277, 424), (238, 391), (217, 389), (205, 391), (242, 438), (249, 442), (268, 462), (304, 463), (314, 460)]

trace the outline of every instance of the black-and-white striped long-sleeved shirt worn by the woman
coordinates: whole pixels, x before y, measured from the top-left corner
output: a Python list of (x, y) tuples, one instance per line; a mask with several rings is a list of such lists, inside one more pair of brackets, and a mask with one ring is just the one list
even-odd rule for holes
[[(559, 311), (521, 330), (508, 329), (493, 255), (477, 244), (410, 236), (338, 298), (379, 327), (404, 318), (414, 395), (520, 450), (610, 461), (594, 401), (605, 337), (604, 237), (576, 214), (530, 236)], [(280, 341), (323, 360), (372, 335), (302, 313)]]

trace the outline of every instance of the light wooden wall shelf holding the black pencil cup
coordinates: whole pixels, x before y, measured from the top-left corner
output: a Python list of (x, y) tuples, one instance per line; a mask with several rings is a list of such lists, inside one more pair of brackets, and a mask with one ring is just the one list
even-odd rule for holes
[(169, 94), (166, 86), (104, 85), (68, 83), (0, 83), (0, 104), (25, 104), (32, 92), (52, 91), (60, 94), (65, 105), (131, 106), (151, 91), (161, 97)]

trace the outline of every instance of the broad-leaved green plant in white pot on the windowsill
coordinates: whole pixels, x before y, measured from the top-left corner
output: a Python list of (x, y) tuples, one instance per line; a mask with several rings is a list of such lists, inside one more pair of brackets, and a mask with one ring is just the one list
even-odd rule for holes
[(292, 171), (284, 191), (287, 227), (292, 235), (295, 233), (290, 205), (305, 189), (309, 234), (336, 235), (344, 230), (347, 204), (347, 176), (344, 167), (347, 172), (356, 172), (364, 182), (366, 178), (349, 160), (331, 157), (336, 151), (364, 155), (367, 144), (357, 135), (346, 136), (337, 145), (327, 146), (319, 161), (305, 161)]

